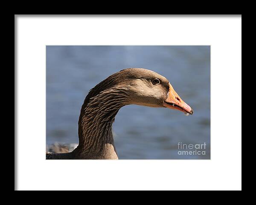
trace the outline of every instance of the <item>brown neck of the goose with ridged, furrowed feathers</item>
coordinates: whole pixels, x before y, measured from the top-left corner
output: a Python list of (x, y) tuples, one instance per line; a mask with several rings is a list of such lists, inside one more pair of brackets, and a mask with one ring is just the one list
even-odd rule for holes
[[(90, 90), (79, 116), (80, 154), (95, 157), (104, 152), (106, 144), (113, 143), (112, 124), (119, 109), (129, 104), (129, 95), (122, 81), (131, 78), (122, 71), (117, 72)], [(114, 147), (115, 148), (115, 147)]]

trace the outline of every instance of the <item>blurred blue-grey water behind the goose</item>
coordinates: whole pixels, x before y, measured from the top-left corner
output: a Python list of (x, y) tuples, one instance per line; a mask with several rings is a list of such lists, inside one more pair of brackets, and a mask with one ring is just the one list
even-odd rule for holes
[[(195, 111), (129, 105), (113, 124), (119, 159), (210, 158), (210, 46), (47, 46), (47, 144), (78, 143), (88, 91), (125, 68), (165, 76)], [(207, 144), (206, 155), (179, 155), (178, 142)]]

